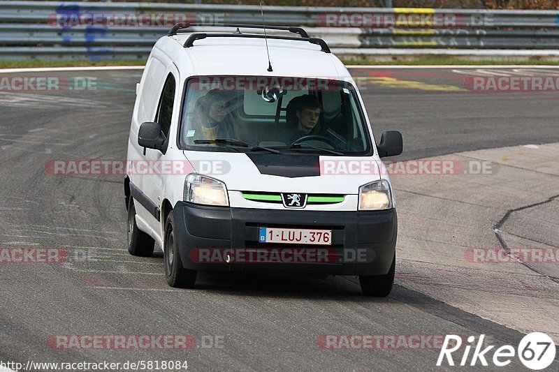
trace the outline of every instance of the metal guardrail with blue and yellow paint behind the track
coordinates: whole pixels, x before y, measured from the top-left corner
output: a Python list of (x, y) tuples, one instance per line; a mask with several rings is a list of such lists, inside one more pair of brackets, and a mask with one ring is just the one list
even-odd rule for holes
[[(264, 15), (269, 25), (304, 26), (333, 52), (559, 49), (559, 12), (553, 10), (265, 6)], [(0, 1), (0, 60), (145, 59), (176, 22), (260, 21), (259, 6)]]

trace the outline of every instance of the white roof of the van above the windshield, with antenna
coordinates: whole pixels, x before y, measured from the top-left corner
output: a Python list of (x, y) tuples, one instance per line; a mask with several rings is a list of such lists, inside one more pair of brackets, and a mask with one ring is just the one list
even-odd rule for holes
[[(205, 38), (194, 41), (192, 47), (183, 47), (190, 35), (180, 33), (170, 38), (184, 50), (184, 57), (188, 56), (191, 60), (193, 75), (321, 77), (332, 80), (349, 77), (337, 57), (306, 40), (268, 38), (273, 68), (272, 72), (268, 72), (266, 40), (263, 38)], [(175, 59), (182, 59), (180, 54), (177, 53)]]

